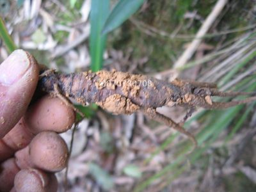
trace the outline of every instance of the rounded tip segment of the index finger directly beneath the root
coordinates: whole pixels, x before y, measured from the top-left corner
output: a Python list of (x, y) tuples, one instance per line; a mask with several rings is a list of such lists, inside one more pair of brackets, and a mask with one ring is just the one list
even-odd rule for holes
[(42, 131), (65, 132), (76, 120), (72, 108), (58, 98), (47, 95), (33, 104), (24, 116), (35, 134)]

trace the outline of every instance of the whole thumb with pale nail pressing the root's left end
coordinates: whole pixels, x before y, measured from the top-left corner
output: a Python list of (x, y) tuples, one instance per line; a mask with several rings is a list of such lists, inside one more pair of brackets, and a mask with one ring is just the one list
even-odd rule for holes
[(38, 81), (36, 60), (17, 50), (0, 65), (0, 138), (24, 115)]

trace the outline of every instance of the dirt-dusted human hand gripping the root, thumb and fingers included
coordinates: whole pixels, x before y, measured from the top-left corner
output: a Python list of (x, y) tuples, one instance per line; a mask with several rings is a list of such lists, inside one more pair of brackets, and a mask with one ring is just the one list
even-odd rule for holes
[(68, 149), (56, 132), (70, 129), (74, 111), (46, 95), (30, 104), (38, 65), (14, 51), (0, 65), (0, 191), (57, 191), (54, 172), (65, 168)]

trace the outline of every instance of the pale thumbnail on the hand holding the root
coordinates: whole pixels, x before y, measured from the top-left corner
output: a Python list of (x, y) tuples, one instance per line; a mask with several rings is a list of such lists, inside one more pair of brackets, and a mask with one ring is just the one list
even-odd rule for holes
[(18, 81), (29, 68), (28, 54), (23, 50), (13, 51), (0, 65), (0, 83), (11, 85)]

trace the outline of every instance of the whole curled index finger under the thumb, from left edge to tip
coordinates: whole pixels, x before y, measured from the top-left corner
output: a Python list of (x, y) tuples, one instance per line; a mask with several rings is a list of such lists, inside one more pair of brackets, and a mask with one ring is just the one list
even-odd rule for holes
[(72, 127), (76, 115), (72, 108), (60, 99), (45, 96), (29, 107), (13, 129), (0, 139), (0, 162), (26, 147), (36, 133), (42, 131), (63, 132)]

